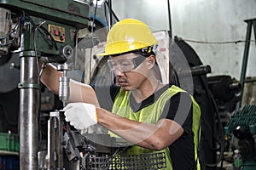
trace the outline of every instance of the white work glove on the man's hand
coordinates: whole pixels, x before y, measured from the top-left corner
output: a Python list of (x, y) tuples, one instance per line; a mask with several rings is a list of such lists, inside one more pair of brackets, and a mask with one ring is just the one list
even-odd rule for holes
[(63, 111), (65, 111), (65, 120), (70, 122), (76, 129), (84, 129), (97, 123), (95, 105), (86, 103), (70, 103)]

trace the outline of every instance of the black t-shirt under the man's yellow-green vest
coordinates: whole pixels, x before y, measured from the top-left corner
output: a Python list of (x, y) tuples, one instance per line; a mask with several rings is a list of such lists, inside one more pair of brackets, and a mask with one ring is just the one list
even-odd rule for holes
[[(167, 88), (172, 85), (167, 84), (160, 88), (155, 94), (152, 94), (142, 103), (137, 103), (133, 96), (130, 96), (130, 106), (133, 111), (140, 111), (144, 107), (151, 105), (156, 101)], [(102, 108), (111, 111), (113, 101), (119, 93), (118, 86), (97, 86), (93, 87), (96, 91), (97, 98)], [(192, 100), (188, 93), (177, 93), (166, 102), (164, 111), (160, 119), (171, 119), (183, 127), (184, 133), (174, 143), (169, 146), (170, 156), (172, 159), (172, 167), (174, 170), (193, 169), (195, 167), (195, 144), (194, 133), (192, 131), (193, 122), (193, 106)]]

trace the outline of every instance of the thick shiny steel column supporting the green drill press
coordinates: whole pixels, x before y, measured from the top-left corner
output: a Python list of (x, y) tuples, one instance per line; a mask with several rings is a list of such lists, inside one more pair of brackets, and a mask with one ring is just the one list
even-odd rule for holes
[(20, 53), (20, 169), (26, 170), (38, 169), (38, 60), (32, 52)]

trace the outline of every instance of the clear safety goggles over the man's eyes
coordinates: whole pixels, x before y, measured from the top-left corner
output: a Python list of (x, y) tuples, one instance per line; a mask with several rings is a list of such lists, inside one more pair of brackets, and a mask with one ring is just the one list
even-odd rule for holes
[(140, 55), (133, 59), (108, 59), (108, 66), (111, 71), (129, 72), (137, 68), (138, 65), (142, 64), (145, 56)]

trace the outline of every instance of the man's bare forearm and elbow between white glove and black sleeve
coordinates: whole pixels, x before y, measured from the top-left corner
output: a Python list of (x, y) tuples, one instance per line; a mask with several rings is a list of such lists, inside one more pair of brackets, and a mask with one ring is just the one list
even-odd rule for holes
[(97, 108), (97, 120), (113, 133), (150, 150), (163, 150), (183, 134), (183, 127), (170, 119), (156, 124), (136, 122)]

